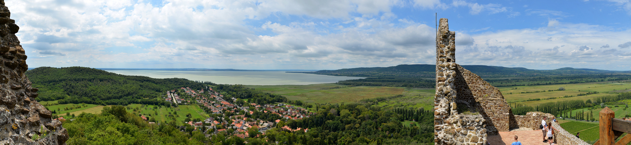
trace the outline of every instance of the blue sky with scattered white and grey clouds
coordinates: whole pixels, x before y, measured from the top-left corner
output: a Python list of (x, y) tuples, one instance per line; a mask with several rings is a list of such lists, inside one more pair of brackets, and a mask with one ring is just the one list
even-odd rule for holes
[(456, 63), (631, 70), (631, 0), (5, 1), (29, 67), (343, 69)]

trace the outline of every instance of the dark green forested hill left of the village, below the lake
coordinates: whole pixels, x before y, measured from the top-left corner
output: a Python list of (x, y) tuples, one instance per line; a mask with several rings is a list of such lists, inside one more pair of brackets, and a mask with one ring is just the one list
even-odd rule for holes
[(168, 90), (180, 87), (199, 90), (204, 86), (188, 79), (125, 76), (88, 67), (37, 67), (25, 74), (33, 88), (39, 89), (38, 101), (59, 100), (59, 103), (156, 104), (163, 102), (158, 96)]

